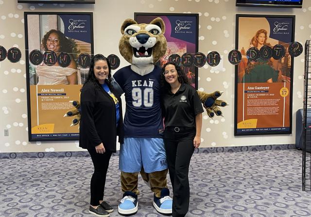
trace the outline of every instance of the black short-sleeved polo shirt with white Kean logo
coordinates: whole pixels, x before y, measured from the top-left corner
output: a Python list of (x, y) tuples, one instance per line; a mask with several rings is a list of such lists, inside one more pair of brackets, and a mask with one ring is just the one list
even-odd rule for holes
[(197, 91), (182, 84), (175, 94), (169, 90), (162, 96), (162, 114), (165, 127), (194, 127), (195, 116), (204, 112)]

